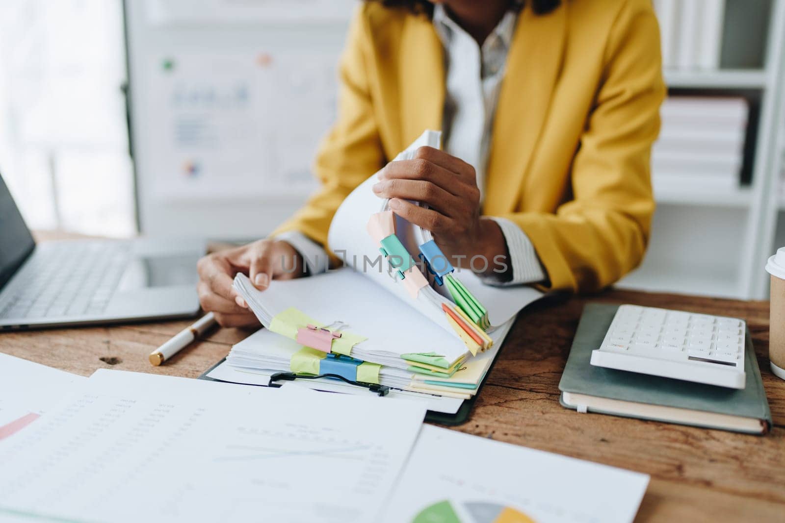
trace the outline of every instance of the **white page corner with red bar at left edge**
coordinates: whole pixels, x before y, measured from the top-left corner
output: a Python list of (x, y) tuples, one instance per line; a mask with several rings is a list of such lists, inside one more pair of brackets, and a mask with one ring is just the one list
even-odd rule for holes
[(0, 353), (0, 440), (56, 405), (84, 376)]

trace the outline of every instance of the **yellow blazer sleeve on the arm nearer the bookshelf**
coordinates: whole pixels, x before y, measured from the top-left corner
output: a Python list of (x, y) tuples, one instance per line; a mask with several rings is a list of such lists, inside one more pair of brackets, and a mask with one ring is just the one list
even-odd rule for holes
[(626, 2), (608, 36), (601, 84), (571, 170), (574, 199), (548, 212), (513, 212), (551, 289), (601, 289), (643, 259), (655, 203), (650, 156), (659, 133), (659, 27), (651, 6)]

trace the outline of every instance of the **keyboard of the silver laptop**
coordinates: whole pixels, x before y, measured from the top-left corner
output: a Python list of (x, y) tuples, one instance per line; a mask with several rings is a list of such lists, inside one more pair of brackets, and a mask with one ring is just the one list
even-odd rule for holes
[(101, 314), (128, 263), (128, 242), (64, 242), (36, 249), (3, 293), (0, 318)]

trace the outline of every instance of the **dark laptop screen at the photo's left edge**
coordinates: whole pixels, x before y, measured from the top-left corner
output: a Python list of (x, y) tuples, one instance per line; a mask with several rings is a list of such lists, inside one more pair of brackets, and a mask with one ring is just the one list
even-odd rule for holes
[(0, 176), (0, 288), (11, 279), (34, 247), (30, 229)]

